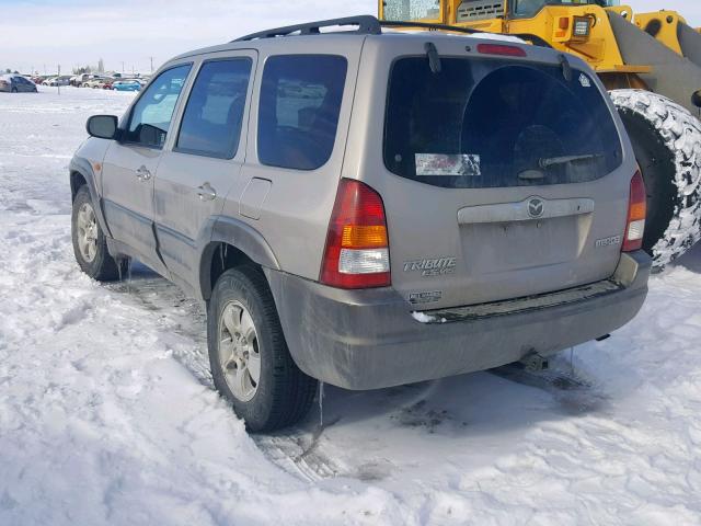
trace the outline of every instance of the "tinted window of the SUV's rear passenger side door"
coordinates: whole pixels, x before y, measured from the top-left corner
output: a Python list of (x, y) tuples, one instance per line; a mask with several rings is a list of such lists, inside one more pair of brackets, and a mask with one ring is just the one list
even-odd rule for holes
[(252, 60), (205, 62), (193, 85), (176, 151), (232, 159), (239, 146)]

